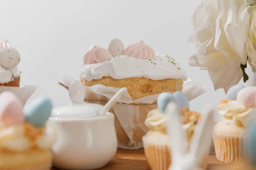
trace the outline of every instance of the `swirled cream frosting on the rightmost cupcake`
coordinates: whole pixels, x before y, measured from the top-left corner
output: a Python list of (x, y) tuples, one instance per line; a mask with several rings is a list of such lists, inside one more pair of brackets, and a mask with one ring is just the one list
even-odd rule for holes
[(256, 120), (256, 108), (246, 108), (236, 100), (222, 100), (217, 108), (221, 118), (228, 124), (247, 127)]

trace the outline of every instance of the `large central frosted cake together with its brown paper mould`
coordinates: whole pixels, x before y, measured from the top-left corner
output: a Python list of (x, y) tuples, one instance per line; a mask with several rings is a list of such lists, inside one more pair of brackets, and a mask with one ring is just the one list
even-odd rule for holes
[[(142, 137), (148, 131), (144, 125), (146, 115), (157, 108), (156, 99), (149, 103), (141, 101), (162, 92), (182, 91), (183, 81), (187, 77), (175, 59), (155, 53), (143, 41), (125, 48), (121, 40), (113, 39), (107, 49), (93, 45), (85, 54), (80, 79), (83, 85), (96, 85), (97, 89), (104, 89), (102, 92), (106, 91), (106, 87), (126, 87), (129, 101), (138, 101), (116, 104), (116, 108), (111, 111), (116, 115), (119, 148), (137, 149), (143, 147)], [(101, 96), (100, 99), (94, 99), (87, 96), (87, 102), (105, 105), (108, 98)], [(126, 116), (116, 111), (125, 111)], [(129, 125), (123, 121), (125, 119), (130, 120)]]

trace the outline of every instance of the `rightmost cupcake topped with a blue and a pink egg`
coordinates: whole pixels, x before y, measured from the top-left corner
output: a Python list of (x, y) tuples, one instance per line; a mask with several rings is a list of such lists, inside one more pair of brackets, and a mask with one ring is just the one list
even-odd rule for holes
[(217, 105), (221, 121), (215, 124), (212, 136), (216, 158), (233, 163), (240, 161), (247, 139), (246, 128), (256, 120), (256, 87), (235, 85), (227, 97)]

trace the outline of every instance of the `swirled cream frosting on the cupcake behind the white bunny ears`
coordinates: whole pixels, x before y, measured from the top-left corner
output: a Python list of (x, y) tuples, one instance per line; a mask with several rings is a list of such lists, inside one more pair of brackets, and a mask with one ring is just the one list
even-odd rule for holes
[[(182, 127), (186, 130), (188, 141), (191, 140), (195, 126), (200, 118), (197, 112), (189, 111), (186, 108), (181, 109)], [(159, 131), (166, 134), (166, 121), (168, 116), (160, 113), (159, 109), (148, 112), (148, 117), (145, 120), (145, 125), (151, 130)]]

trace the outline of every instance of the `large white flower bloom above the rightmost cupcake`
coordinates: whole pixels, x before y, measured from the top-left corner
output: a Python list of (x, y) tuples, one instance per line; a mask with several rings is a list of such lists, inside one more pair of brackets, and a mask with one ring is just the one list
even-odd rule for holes
[(189, 65), (207, 70), (215, 90), (225, 92), (243, 77), (250, 15), (246, 0), (203, 0), (192, 17), (195, 43)]

